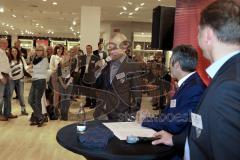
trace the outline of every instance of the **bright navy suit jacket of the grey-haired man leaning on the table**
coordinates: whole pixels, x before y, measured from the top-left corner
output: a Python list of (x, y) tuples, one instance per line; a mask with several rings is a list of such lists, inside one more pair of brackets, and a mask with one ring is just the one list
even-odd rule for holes
[(146, 118), (142, 126), (172, 134), (179, 134), (189, 123), (190, 113), (195, 111), (206, 86), (198, 73), (194, 73), (184, 81), (172, 97), (176, 100), (176, 107), (168, 105), (157, 118)]

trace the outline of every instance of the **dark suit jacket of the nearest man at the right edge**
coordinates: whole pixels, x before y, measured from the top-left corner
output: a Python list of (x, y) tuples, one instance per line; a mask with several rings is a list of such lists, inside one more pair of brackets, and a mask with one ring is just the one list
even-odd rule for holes
[[(190, 130), (186, 130), (191, 159), (239, 160), (240, 53), (214, 76), (196, 113), (202, 117), (203, 129), (199, 132), (190, 126)], [(174, 144), (183, 147), (184, 137), (184, 134), (175, 136)]]

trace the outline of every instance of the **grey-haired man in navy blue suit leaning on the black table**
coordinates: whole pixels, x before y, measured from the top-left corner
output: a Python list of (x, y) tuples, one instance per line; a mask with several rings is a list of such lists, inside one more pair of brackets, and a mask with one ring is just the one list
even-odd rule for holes
[(179, 134), (186, 128), (190, 114), (195, 111), (206, 88), (195, 72), (197, 59), (197, 51), (192, 46), (180, 45), (173, 49), (170, 71), (172, 77), (178, 80), (179, 89), (160, 116), (144, 119), (142, 126), (172, 134)]

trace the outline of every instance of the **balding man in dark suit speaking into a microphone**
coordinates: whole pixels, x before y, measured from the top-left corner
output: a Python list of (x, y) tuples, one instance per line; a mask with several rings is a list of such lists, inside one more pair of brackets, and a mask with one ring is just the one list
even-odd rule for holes
[[(127, 38), (123, 34), (117, 33), (109, 42), (109, 55), (112, 60), (105, 63), (97, 79), (98, 88), (106, 91), (106, 94), (99, 96), (105, 101), (105, 105), (96, 108), (95, 118), (105, 114), (108, 120), (127, 121), (140, 108), (141, 93), (135, 90), (135, 87), (141, 84), (137, 77), (140, 68), (125, 54), (128, 47), (125, 46), (126, 41)], [(104, 96), (109, 94), (115, 98)], [(132, 104), (131, 96), (135, 104)]]

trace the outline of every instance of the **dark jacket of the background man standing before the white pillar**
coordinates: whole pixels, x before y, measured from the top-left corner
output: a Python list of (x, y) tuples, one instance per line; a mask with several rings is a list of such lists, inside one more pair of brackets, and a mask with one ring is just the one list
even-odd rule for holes
[(95, 78), (95, 63), (99, 60), (99, 58), (95, 55), (91, 56), (89, 66), (88, 66), (88, 72), (86, 73), (86, 59), (87, 55), (83, 55), (80, 58), (80, 77), (82, 79), (82, 82), (85, 84), (94, 84), (96, 81)]

